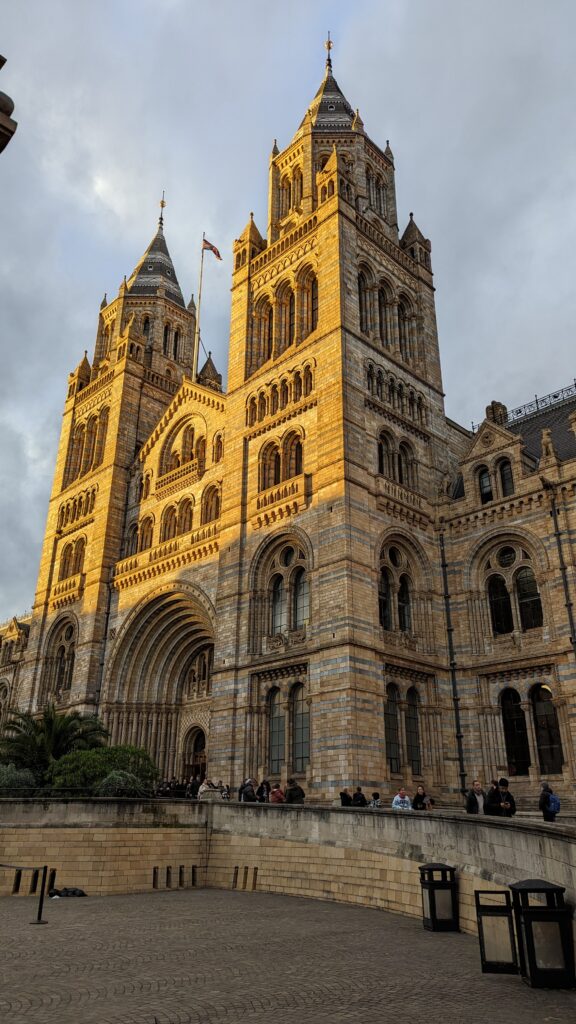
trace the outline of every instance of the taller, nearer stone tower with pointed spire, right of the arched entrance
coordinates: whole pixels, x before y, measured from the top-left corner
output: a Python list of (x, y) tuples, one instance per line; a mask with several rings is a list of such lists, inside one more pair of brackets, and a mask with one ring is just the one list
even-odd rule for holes
[(431, 565), (450, 456), (430, 244), (412, 215), (399, 236), (392, 150), (330, 46), (272, 151), (266, 238), (250, 216), (234, 247), (210, 761), (222, 777), (300, 772), (319, 793), (406, 777), (384, 754), (394, 693), (426, 705), (440, 785)]

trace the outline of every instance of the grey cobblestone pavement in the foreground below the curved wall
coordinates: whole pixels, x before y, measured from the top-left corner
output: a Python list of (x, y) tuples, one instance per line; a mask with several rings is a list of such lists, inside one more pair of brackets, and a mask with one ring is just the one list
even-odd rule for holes
[(483, 976), (478, 942), (381, 910), (196, 890), (0, 900), (5, 1024), (530, 1024), (572, 992)]

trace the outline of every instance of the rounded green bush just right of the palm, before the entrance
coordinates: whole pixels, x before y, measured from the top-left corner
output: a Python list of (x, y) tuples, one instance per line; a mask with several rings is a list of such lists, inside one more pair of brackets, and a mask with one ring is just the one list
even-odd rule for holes
[(139, 746), (99, 746), (91, 751), (76, 751), (56, 761), (49, 772), (52, 793), (91, 794), (112, 773), (133, 776), (143, 795), (152, 790), (158, 770), (154, 761)]

